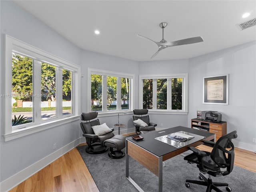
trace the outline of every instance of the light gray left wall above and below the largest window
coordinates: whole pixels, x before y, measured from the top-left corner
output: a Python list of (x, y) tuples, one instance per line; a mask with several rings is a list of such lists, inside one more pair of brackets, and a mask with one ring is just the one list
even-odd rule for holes
[[(4, 34), (8, 34), (32, 46), (54, 54), (55, 56), (58, 56), (64, 60), (68, 60), (69, 62), (80, 65), (81, 50), (78, 47), (68, 42), (62, 36), (48, 28), (30, 14), (24, 12), (24, 10), (16, 6), (13, 2), (0, 1), (0, 4), (1, 58), (3, 58), (2, 50), (4, 50), (3, 36)], [(1, 59), (0, 68), (3, 69), (3, 67), (4, 62)], [(1, 77), (2, 75), (1, 70)], [(0, 93), (4, 94), (3, 80), (1, 80), (1, 82)], [(58, 126), (38, 132), (36, 134), (11, 140), (9, 142), (4, 142), (2, 137), (3, 113), (4, 109), (1, 110), (0, 120), (0, 191), (5, 191), (5, 187), (8, 186), (8, 184), (11, 186), (12, 183), (16, 182), (13, 178), (11, 178), (12, 176), (15, 178), (15, 174), (19, 174), (26, 168), (34, 166), (34, 164), (44, 160), (46, 157), (54, 152), (57, 152), (64, 146), (69, 144), (75, 145), (74, 141), (81, 136), (81, 128), (79, 122), (77, 121), (64, 126)], [(55, 143), (56, 150), (53, 149), (53, 144)], [(43, 165), (44, 163), (40, 164), (40, 166)], [(32, 174), (33, 171), (36, 170), (30, 171), (31, 172), (28, 172), (28, 175)], [(22, 176), (26, 177), (26, 175)], [(20, 177), (20, 179), (21, 178), (22, 177)], [(6, 182), (8, 182), (7, 185), (5, 185)]]

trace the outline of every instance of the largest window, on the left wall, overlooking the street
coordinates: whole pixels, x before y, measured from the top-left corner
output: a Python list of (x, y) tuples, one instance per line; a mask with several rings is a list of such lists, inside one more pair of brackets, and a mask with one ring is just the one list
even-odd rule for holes
[(79, 119), (80, 67), (8, 35), (5, 42), (5, 141)]

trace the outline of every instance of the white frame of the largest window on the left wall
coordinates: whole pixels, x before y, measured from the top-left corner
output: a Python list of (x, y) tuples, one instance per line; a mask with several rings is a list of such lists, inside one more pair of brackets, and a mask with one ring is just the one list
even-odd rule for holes
[[(51, 64), (56, 66), (58, 70), (62, 70), (62, 68), (66, 70), (70, 70), (72, 72), (72, 114), (70, 116), (63, 116), (62, 115), (62, 88), (59, 89), (60, 94), (58, 100), (58, 104), (56, 103), (56, 116), (57, 116), (57, 108), (58, 110), (58, 117), (54, 118), (53, 120), (42, 120), (40, 122), (33, 122), (28, 123), (28, 126), (22, 129), (15, 129), (12, 126), (12, 76), (6, 74), (12, 74), (12, 52), (17, 54), (28, 56), (32, 59), (35, 59), (39, 62), (45, 62), (47, 64)], [(54, 56), (48, 52), (40, 50), (34, 46), (31, 46), (25, 42), (22, 42), (16, 38), (13, 38), (7, 34), (4, 36), (4, 63), (2, 64), (4, 73), (2, 74), (2, 80), (5, 81), (3, 84), (2, 92), (4, 93), (1, 95), (1, 106), (5, 109), (5, 113), (2, 115), (2, 119), (4, 122), (2, 125), (4, 126), (3, 137), (4, 141), (13, 140), (16, 138), (20, 138), (22, 136), (26, 136), (29, 134), (33, 134), (42, 130), (46, 130), (49, 128), (53, 128), (56, 126), (60, 126), (62, 124), (66, 124), (68, 122), (73, 122), (79, 120), (80, 116), (80, 66), (75, 65), (71, 62), (63, 60), (57, 56)], [(40, 70), (41, 71), (41, 70)], [(56, 70), (56, 73), (59, 73)], [(34, 74), (33, 74), (34, 78)], [(62, 77), (61, 77), (62, 79)], [(60, 78), (57, 81), (60, 83)], [(34, 85), (33, 85), (34, 86)], [(62, 86), (62, 80), (61, 80)], [(76, 102), (74, 102), (76, 101)], [(38, 110), (38, 108), (36, 108)], [(35, 114), (36, 112), (41, 113), (40, 111), (33, 111)], [(25, 125), (25, 124), (24, 124)], [(16, 127), (16, 126), (15, 126)]]

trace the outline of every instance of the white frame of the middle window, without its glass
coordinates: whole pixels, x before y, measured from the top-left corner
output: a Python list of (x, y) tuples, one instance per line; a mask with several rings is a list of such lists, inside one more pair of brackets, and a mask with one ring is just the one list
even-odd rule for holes
[[(129, 78), (130, 82), (129, 82), (129, 87), (130, 87), (130, 97), (129, 97), (129, 109), (128, 110), (122, 110), (121, 108), (121, 100), (117, 100), (117, 102), (119, 102), (119, 104), (117, 103), (116, 106), (116, 110), (114, 111), (108, 111), (107, 108), (105, 108), (105, 105), (102, 105), (102, 111), (98, 111), (98, 114), (115, 114), (115, 113), (120, 113), (120, 112), (129, 112), (132, 111), (134, 109), (134, 78), (135, 75), (134, 74), (128, 74), (128, 73), (123, 73), (123, 72), (114, 72), (114, 71), (108, 71), (108, 70), (100, 70), (100, 69), (94, 69), (94, 68), (88, 68), (88, 104), (87, 104), (87, 110), (91, 111), (91, 74), (97, 74), (97, 75), (102, 75), (103, 76), (103, 82), (102, 82), (102, 86), (104, 87), (104, 78), (106, 78), (106, 76), (113, 76), (113, 77), (117, 77), (117, 86), (121, 87), (121, 78)], [(105, 87), (107, 87), (105, 85)], [(102, 90), (102, 92), (104, 92), (104, 90)], [(116, 90), (116, 98), (119, 98), (119, 96), (121, 95), (121, 89), (117, 89)], [(102, 98), (103, 100), (103, 98)], [(104, 100), (103, 100), (104, 102)]]

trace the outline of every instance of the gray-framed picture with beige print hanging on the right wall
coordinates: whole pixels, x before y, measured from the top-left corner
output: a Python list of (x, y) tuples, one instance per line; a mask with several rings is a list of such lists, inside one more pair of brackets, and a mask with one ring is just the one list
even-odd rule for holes
[(228, 105), (228, 74), (203, 78), (203, 103)]

